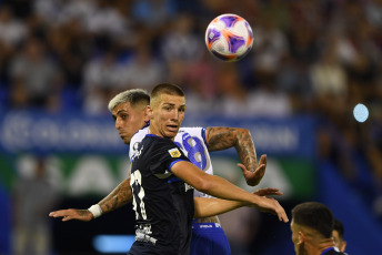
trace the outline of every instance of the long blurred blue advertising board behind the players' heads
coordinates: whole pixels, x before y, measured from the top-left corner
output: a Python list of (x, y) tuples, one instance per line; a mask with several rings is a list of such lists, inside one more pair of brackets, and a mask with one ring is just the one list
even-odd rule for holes
[[(185, 119), (184, 126), (238, 126), (251, 131), (258, 152), (272, 156), (314, 156), (314, 121), (286, 119)], [(8, 112), (0, 116), (0, 152), (127, 154), (109, 115), (50, 115)], [(232, 151), (227, 153), (232, 154)]]

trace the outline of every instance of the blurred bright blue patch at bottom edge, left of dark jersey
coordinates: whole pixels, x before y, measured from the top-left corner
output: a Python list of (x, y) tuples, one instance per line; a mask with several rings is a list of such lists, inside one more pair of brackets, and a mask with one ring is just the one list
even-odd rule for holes
[(127, 254), (134, 241), (134, 235), (97, 235), (93, 246), (99, 253)]

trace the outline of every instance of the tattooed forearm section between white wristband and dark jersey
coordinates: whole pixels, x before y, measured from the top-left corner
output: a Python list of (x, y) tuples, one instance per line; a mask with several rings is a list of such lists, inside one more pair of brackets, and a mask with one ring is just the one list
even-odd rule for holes
[(102, 213), (109, 213), (123, 205), (128, 204), (132, 200), (132, 193), (130, 188), (130, 178), (121, 182), (107, 197), (100, 201), (98, 204), (102, 208)]

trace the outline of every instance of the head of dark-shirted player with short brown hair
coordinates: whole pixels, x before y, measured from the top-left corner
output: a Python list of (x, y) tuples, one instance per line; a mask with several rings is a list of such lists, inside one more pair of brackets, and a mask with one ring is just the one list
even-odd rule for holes
[(174, 139), (184, 119), (185, 96), (182, 89), (170, 83), (157, 85), (151, 92), (148, 113), (152, 134)]

